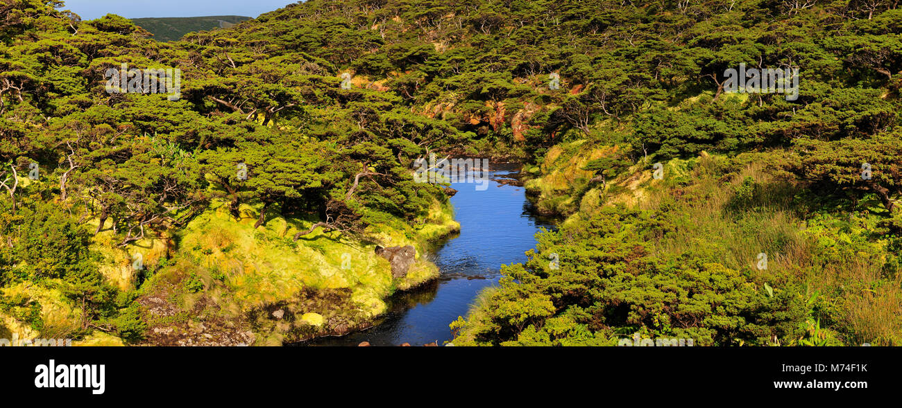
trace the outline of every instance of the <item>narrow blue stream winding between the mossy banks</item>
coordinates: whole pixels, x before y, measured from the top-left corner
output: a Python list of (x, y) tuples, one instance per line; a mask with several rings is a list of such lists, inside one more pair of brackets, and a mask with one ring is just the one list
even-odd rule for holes
[(311, 340), (310, 345), (355, 346), (369, 341), (373, 346), (413, 346), (451, 340), (450, 322), (466, 316), (476, 295), (485, 287), (498, 284), (503, 264), (525, 262), (525, 252), (536, 246), (535, 234), (541, 227), (531, 211), (521, 186), (499, 183), (511, 170), (492, 171), (487, 189), (476, 184), (456, 183), (451, 197), (460, 235), (439, 244), (429, 258), (441, 271), (441, 277), (410, 293), (390, 300), (390, 312), (376, 326), (343, 337)]

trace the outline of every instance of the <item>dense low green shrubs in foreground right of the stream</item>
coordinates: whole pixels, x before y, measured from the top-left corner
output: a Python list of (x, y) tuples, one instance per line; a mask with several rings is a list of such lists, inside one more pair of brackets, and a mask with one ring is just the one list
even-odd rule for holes
[[(503, 269), (501, 289), (465, 335), (480, 344), (586, 344), (629, 329), (701, 345), (766, 345), (801, 334), (804, 304), (794, 288), (759, 291), (747, 274), (701, 254), (655, 255), (649, 240), (675, 228), (666, 217), (603, 207), (540, 234), (529, 262)], [(552, 316), (584, 329), (547, 328)], [(543, 332), (555, 334), (537, 337)]]

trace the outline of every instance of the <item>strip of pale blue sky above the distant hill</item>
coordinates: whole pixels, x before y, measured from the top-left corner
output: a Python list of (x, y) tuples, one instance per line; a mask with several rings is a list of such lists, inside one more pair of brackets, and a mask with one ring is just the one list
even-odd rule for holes
[(139, 17), (198, 17), (204, 15), (246, 15), (257, 17), (298, 0), (64, 0), (63, 10), (71, 10), (83, 20), (119, 14)]

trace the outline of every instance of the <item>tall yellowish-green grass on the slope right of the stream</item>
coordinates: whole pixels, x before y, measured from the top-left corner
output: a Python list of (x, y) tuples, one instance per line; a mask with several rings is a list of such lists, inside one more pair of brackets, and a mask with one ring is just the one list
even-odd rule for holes
[[(842, 243), (842, 227), (808, 228), (794, 199), (800, 187), (774, 177), (766, 163), (727, 176), (714, 166), (701, 159), (688, 186), (658, 182), (638, 204), (671, 214), (676, 224), (676, 231), (654, 243), (658, 255), (693, 253), (745, 271), (758, 283), (802, 284), (823, 294), (815, 313), (832, 322), (847, 344), (900, 344), (902, 282), (884, 270), (883, 249), (874, 249), (879, 242)], [(834, 216), (843, 225), (852, 218)], [(840, 242), (833, 246), (839, 249), (825, 252), (818, 241), (824, 239)], [(759, 268), (759, 253), (767, 254), (766, 269)]]

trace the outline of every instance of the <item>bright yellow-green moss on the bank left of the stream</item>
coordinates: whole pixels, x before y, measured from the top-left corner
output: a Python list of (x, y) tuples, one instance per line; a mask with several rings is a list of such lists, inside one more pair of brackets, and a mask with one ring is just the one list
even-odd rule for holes
[[(216, 313), (262, 318), (257, 345), (368, 324), (386, 312), (385, 299), (396, 290), (438, 277), (438, 268), (425, 257), (430, 242), (460, 228), (451, 206), (435, 202), (419, 225), (400, 219), (380, 223), (364, 232), (364, 240), (319, 228), (295, 241), (298, 231), (316, 221), (274, 216), (254, 229), (258, 211), (243, 204), (235, 220), (226, 204), (213, 203), (181, 232), (175, 264), (152, 280), (152, 286), (195, 282), (193, 290), (176, 293), (182, 310), (191, 310), (202, 296), (218, 306)], [(390, 263), (376, 254), (377, 244), (417, 249), (406, 276), (392, 277)], [(274, 309), (298, 316), (297, 321), (272, 318)]]

